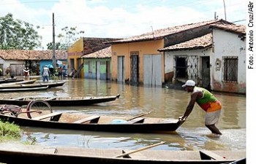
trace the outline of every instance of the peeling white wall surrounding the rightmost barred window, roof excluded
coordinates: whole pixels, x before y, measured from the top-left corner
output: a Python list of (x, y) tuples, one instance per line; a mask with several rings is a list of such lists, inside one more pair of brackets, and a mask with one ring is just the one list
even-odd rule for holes
[[(213, 29), (213, 50), (211, 58), (211, 87), (212, 90), (228, 93), (246, 93), (246, 42), (238, 34)], [(238, 58), (238, 80), (227, 82), (224, 80), (224, 58), (232, 56)]]

